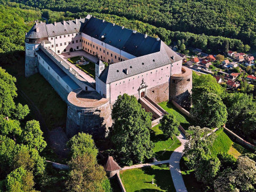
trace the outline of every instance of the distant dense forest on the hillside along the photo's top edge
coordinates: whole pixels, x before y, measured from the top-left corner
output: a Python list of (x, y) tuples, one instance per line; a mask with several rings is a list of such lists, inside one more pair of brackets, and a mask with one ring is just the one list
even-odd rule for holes
[(245, 44), (256, 44), (256, 2), (253, 0), (12, 1), (52, 11), (114, 14), (171, 31), (238, 38)]

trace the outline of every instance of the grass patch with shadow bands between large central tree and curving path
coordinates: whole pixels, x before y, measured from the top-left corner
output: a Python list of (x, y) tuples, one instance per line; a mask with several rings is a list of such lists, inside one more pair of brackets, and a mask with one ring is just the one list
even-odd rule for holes
[(158, 161), (169, 159), (174, 149), (181, 145), (177, 137), (174, 137), (174, 140), (172, 138), (167, 139), (159, 130), (159, 124), (150, 130), (150, 140), (155, 144), (153, 151)]

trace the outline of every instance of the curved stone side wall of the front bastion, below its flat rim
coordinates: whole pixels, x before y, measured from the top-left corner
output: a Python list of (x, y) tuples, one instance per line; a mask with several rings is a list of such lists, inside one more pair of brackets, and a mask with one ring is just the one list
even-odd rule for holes
[(66, 133), (69, 138), (78, 132), (92, 134), (94, 138), (102, 138), (108, 134), (112, 125), (109, 103), (96, 108), (81, 108), (69, 103)]

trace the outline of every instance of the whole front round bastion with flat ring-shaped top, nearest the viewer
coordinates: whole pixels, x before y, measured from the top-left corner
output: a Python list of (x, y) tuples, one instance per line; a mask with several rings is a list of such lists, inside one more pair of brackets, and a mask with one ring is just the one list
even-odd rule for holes
[(108, 134), (112, 125), (109, 99), (102, 98), (95, 91), (82, 89), (68, 94), (67, 136), (73, 137), (78, 132), (92, 134), (101, 138)]

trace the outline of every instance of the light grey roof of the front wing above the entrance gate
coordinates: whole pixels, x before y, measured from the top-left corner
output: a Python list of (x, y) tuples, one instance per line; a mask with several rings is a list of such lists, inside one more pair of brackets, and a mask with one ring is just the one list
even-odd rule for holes
[[(182, 60), (182, 58), (161, 41), (160, 51), (143, 55), (138, 58), (113, 63), (102, 72), (99, 79), (108, 84), (158, 67), (166, 66), (179, 60)], [(128, 74), (125, 73), (125, 69), (128, 69)]]

